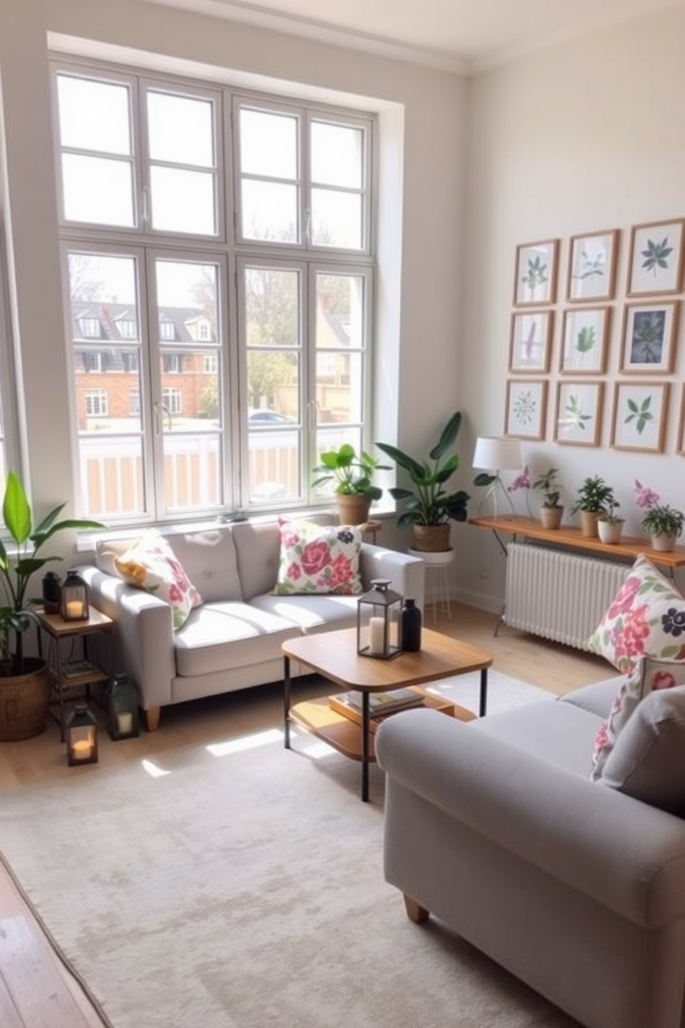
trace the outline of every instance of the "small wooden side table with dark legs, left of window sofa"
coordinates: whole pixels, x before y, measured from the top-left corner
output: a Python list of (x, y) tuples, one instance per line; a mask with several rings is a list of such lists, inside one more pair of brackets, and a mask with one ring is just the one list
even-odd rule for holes
[[(114, 626), (111, 618), (102, 614), (93, 607), (89, 609), (87, 621), (63, 621), (59, 614), (46, 614), (42, 609), (36, 611), (40, 622), (38, 631), (38, 655), (43, 659), (43, 633), (47, 636), (47, 653), (45, 660), (52, 674), (52, 693), (55, 697), (51, 701), (56, 702), (59, 717), (55, 718), (60, 726), (60, 739), (65, 741), (65, 694), (70, 689), (86, 690), (89, 696), (90, 686), (102, 685), (110, 677), (109, 671), (99, 667), (90, 659), (89, 641), (93, 635), (100, 632), (110, 633)], [(62, 645), (65, 640), (78, 645), (80, 658), (73, 661), (64, 661)], [(111, 640), (110, 640), (111, 646)], [(79, 669), (78, 664), (88, 664), (84, 669)], [(71, 666), (70, 666), (71, 665)], [(54, 714), (53, 714), (54, 717)]]

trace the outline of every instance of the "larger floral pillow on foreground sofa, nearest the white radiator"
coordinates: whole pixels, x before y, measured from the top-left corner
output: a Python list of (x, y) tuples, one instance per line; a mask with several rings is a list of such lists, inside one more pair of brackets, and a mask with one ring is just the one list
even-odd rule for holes
[(585, 646), (623, 673), (643, 656), (685, 660), (685, 599), (640, 554)]

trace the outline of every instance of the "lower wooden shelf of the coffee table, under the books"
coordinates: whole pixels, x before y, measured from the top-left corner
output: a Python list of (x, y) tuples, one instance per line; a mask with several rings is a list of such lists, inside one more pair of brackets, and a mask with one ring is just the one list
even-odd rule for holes
[[(433, 710), (440, 710), (450, 718), (458, 718), (459, 721), (473, 721), (475, 714), (472, 710), (460, 706), (458, 703), (450, 703), (442, 696), (433, 696), (432, 693), (421, 689), (420, 686), (413, 686), (412, 692), (417, 693), (423, 699), (423, 705)], [(412, 707), (411, 709), (416, 709)], [(399, 713), (399, 711), (395, 711)], [(376, 760), (374, 749), (374, 735), (378, 725), (385, 718), (392, 718), (393, 713), (384, 714), (380, 718), (372, 718), (369, 729), (369, 760)], [(290, 718), (296, 725), (299, 725), (311, 735), (316, 736), (339, 754), (349, 757), (353, 761), (361, 760), (361, 726), (338, 713), (329, 704), (328, 696), (320, 696), (313, 700), (303, 700), (290, 708)]]

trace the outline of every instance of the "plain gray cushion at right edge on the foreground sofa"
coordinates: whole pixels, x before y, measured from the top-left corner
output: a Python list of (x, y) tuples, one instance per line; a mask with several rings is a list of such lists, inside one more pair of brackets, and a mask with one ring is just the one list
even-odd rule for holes
[(599, 781), (685, 814), (685, 687), (650, 693), (609, 754)]

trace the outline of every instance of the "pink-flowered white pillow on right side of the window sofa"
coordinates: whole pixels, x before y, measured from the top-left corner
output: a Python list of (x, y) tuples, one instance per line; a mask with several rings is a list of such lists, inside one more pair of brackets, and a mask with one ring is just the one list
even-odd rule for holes
[(358, 528), (286, 518), (278, 519), (278, 527), (280, 562), (275, 595), (361, 592)]

